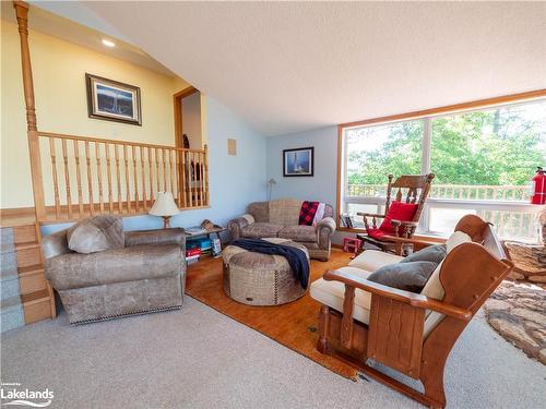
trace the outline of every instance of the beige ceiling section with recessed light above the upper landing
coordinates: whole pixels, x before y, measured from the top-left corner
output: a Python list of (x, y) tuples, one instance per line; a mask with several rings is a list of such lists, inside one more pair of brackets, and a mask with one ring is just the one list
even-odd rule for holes
[[(165, 75), (175, 75), (171, 71), (142, 51), (139, 47), (124, 40), (122, 34), (111, 27), (108, 27), (107, 24), (97, 24), (97, 29), (95, 29), (95, 27), (91, 28), (94, 25), (82, 25), (74, 22), (78, 21), (75, 19), (75, 15), (78, 14), (72, 13), (72, 11), (79, 10), (74, 8), (76, 4), (79, 3), (48, 2), (48, 5), (52, 5), (51, 9), (48, 9), (49, 11), (43, 9), (40, 4), (38, 4), (40, 8), (31, 7), (28, 14), (28, 27)], [(55, 13), (59, 8), (68, 12), (66, 17)], [(13, 10), (11, 1), (2, 1), (0, 10), (3, 20), (16, 23), (15, 10)], [(90, 10), (80, 8), (80, 13), (82, 10), (88, 17)], [(102, 19), (97, 19), (96, 21), (100, 22)], [(108, 33), (109, 35), (105, 35), (103, 33)], [(116, 47), (105, 47), (102, 43), (103, 38), (114, 40), (116, 43)]]

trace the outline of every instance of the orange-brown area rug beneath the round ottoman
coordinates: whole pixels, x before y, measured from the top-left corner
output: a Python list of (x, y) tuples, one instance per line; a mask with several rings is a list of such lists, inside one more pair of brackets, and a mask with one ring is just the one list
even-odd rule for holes
[[(349, 254), (341, 250), (333, 250), (329, 262), (311, 261), (311, 281), (322, 277), (327, 269), (342, 267), (348, 262)], [(356, 380), (355, 368), (317, 351), (320, 303), (309, 293), (297, 301), (277, 306), (241, 304), (224, 292), (222, 258), (204, 258), (190, 266), (186, 293), (322, 366), (347, 378)]]

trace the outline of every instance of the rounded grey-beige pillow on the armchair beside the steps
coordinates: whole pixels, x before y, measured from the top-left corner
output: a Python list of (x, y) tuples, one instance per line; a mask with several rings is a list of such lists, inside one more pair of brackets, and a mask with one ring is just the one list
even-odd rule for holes
[(82, 254), (122, 248), (123, 224), (116, 216), (91, 217), (70, 227), (67, 240), (70, 250)]

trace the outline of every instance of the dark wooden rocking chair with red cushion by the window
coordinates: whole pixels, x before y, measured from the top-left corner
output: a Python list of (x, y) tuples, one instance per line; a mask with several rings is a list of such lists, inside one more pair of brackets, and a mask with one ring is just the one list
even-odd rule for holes
[[(393, 251), (395, 249), (394, 238), (412, 238), (419, 222), (423, 206), (430, 191), (430, 184), (435, 178), (435, 173), (428, 175), (403, 175), (392, 182), (393, 176), (389, 175), (389, 184), (387, 185), (387, 202), (384, 213), (357, 213), (364, 217), (364, 226), (366, 234), (357, 234), (358, 239), (364, 242), (371, 243), (382, 251)], [(396, 196), (393, 202), (402, 202), (416, 205), (413, 209), (413, 217), (410, 220), (391, 219), (388, 215), (391, 207), (392, 189), (397, 189)], [(407, 189), (406, 196), (403, 201), (403, 189)], [(368, 220), (368, 218), (371, 219)], [(378, 219), (387, 221), (378, 226)], [(390, 225), (389, 226), (389, 221)]]

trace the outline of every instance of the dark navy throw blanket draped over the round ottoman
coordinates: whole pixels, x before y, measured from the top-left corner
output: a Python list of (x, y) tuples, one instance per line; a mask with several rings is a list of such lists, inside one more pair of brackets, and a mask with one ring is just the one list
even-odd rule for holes
[(294, 276), (299, 280), (304, 289), (309, 282), (309, 263), (302, 250), (290, 245), (274, 244), (261, 239), (239, 239), (233, 245), (262, 254), (282, 255), (290, 265)]

